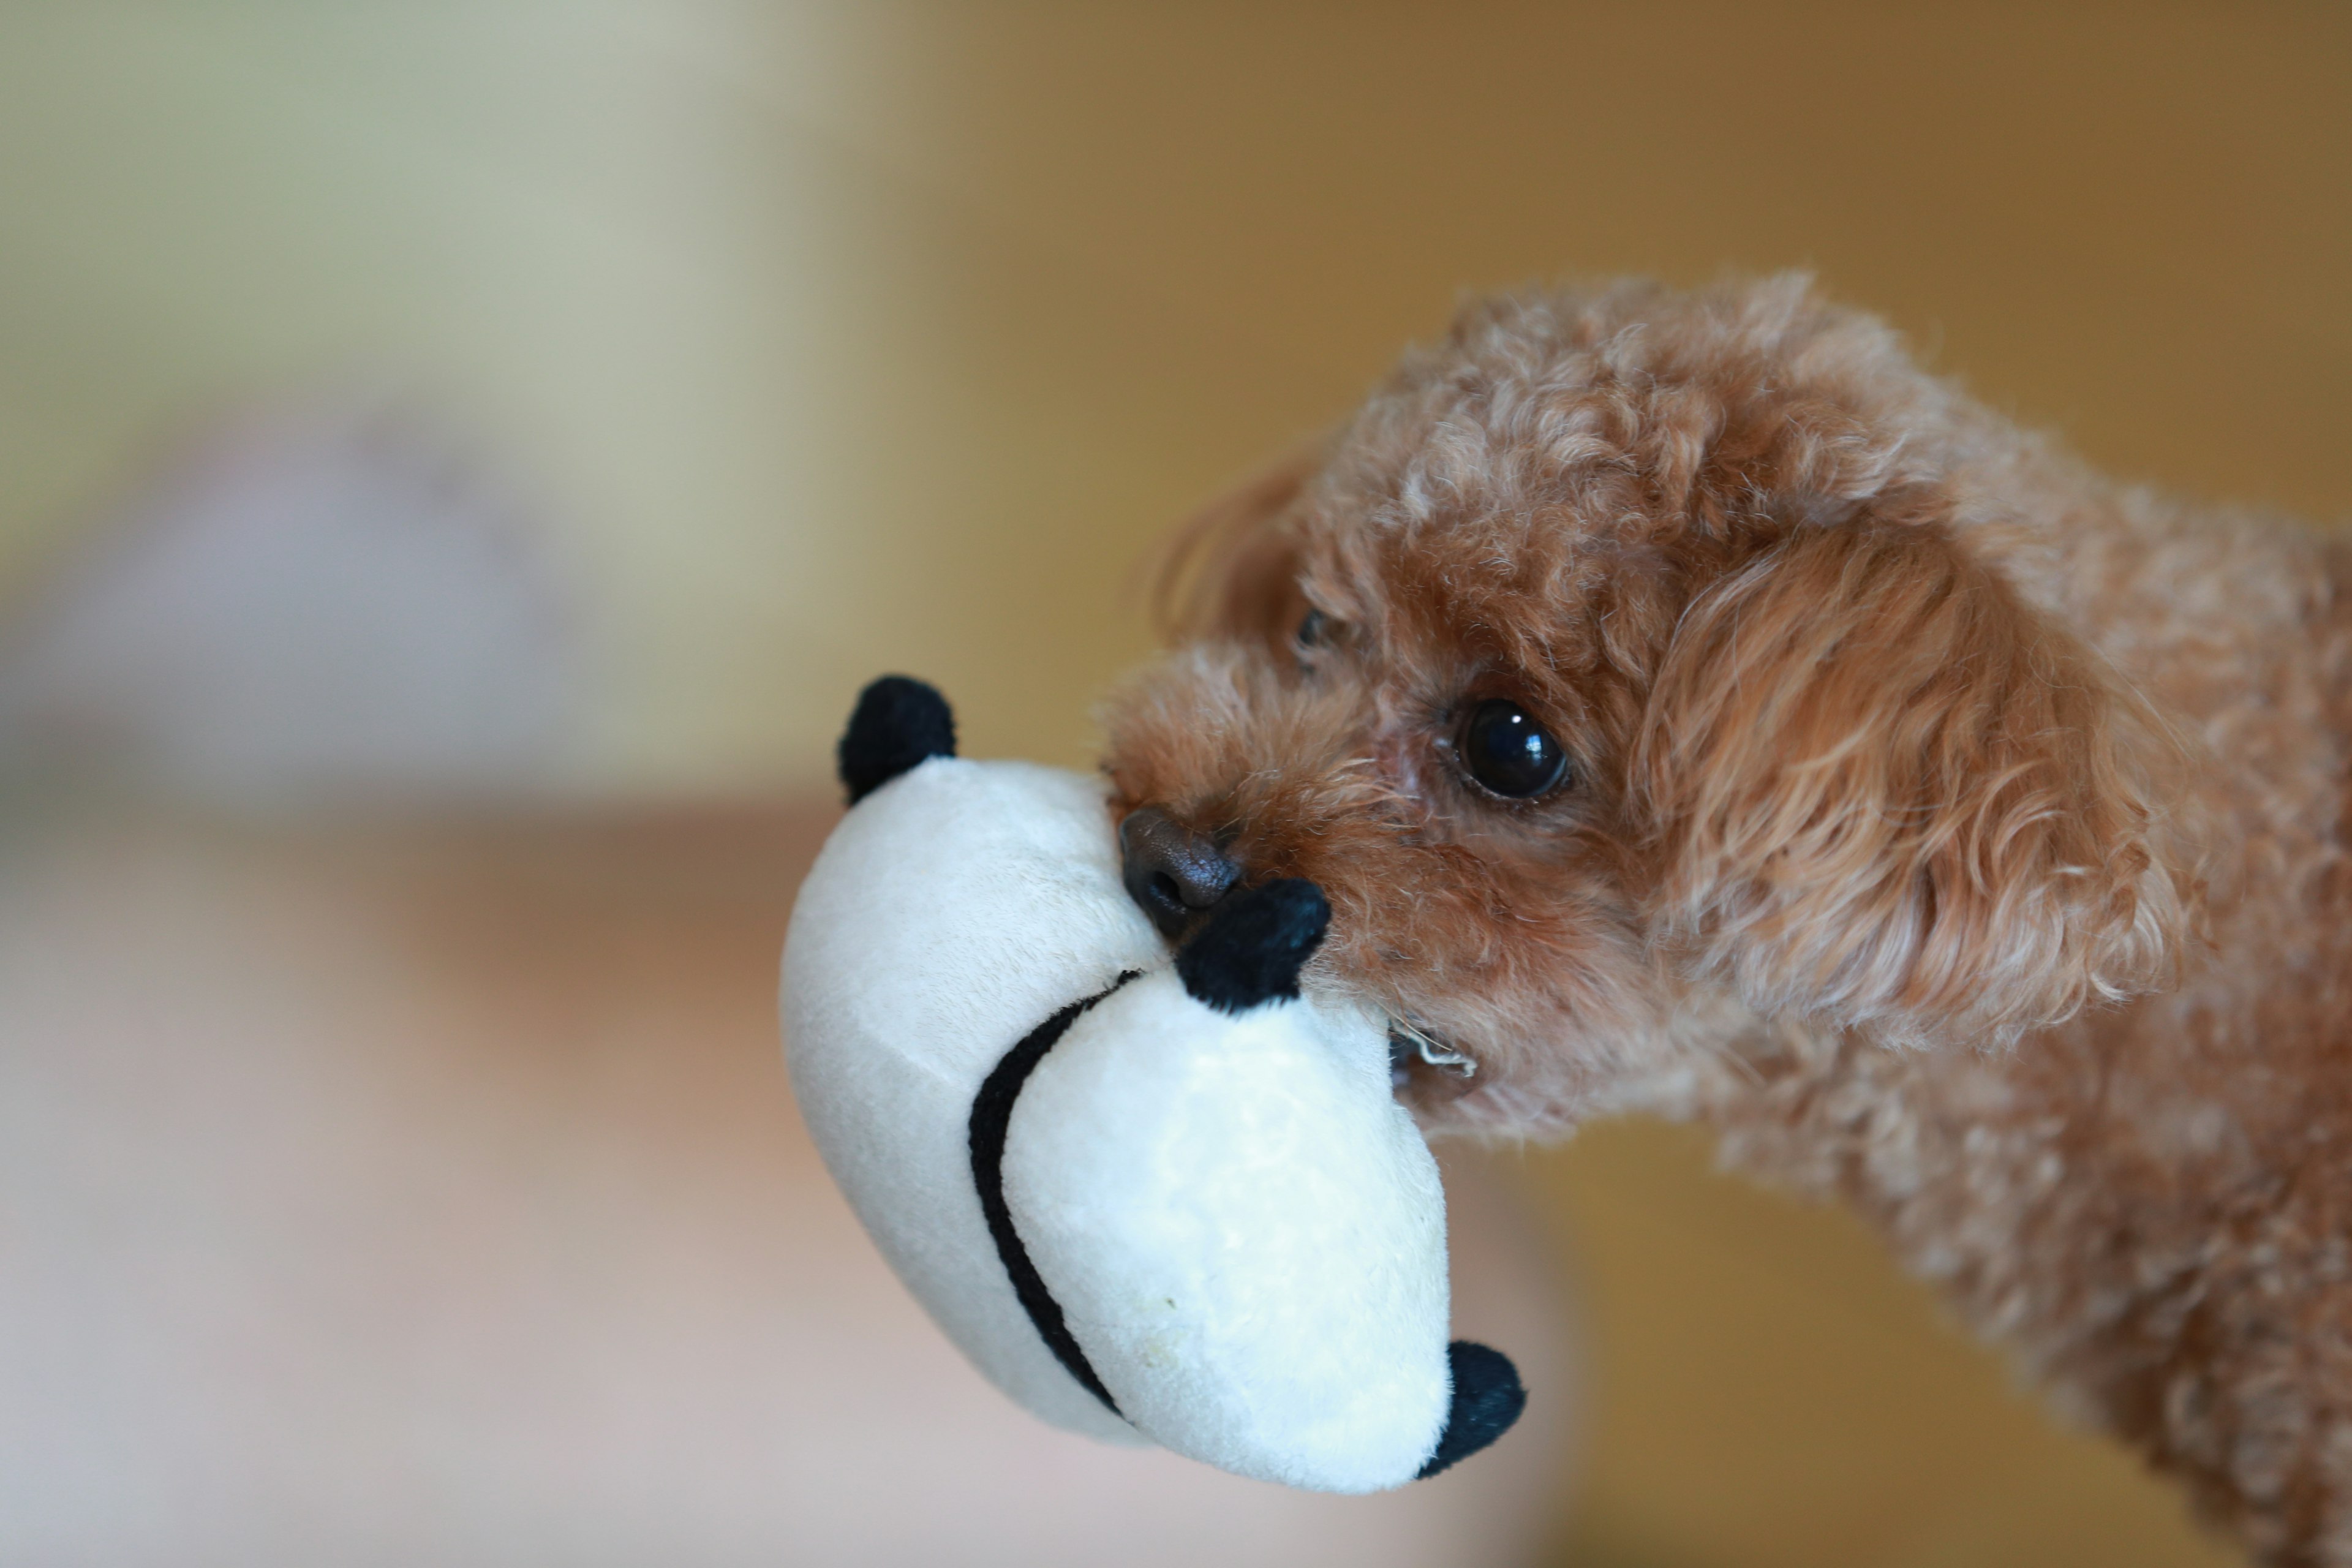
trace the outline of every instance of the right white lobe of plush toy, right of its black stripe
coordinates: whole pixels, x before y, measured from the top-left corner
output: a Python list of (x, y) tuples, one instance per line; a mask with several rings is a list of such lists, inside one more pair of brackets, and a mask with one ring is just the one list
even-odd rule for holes
[(1437, 1161), (1350, 1006), (1214, 1013), (1157, 971), (1030, 1077), (1004, 1194), (1120, 1410), (1263, 1481), (1399, 1486), (1444, 1427)]

